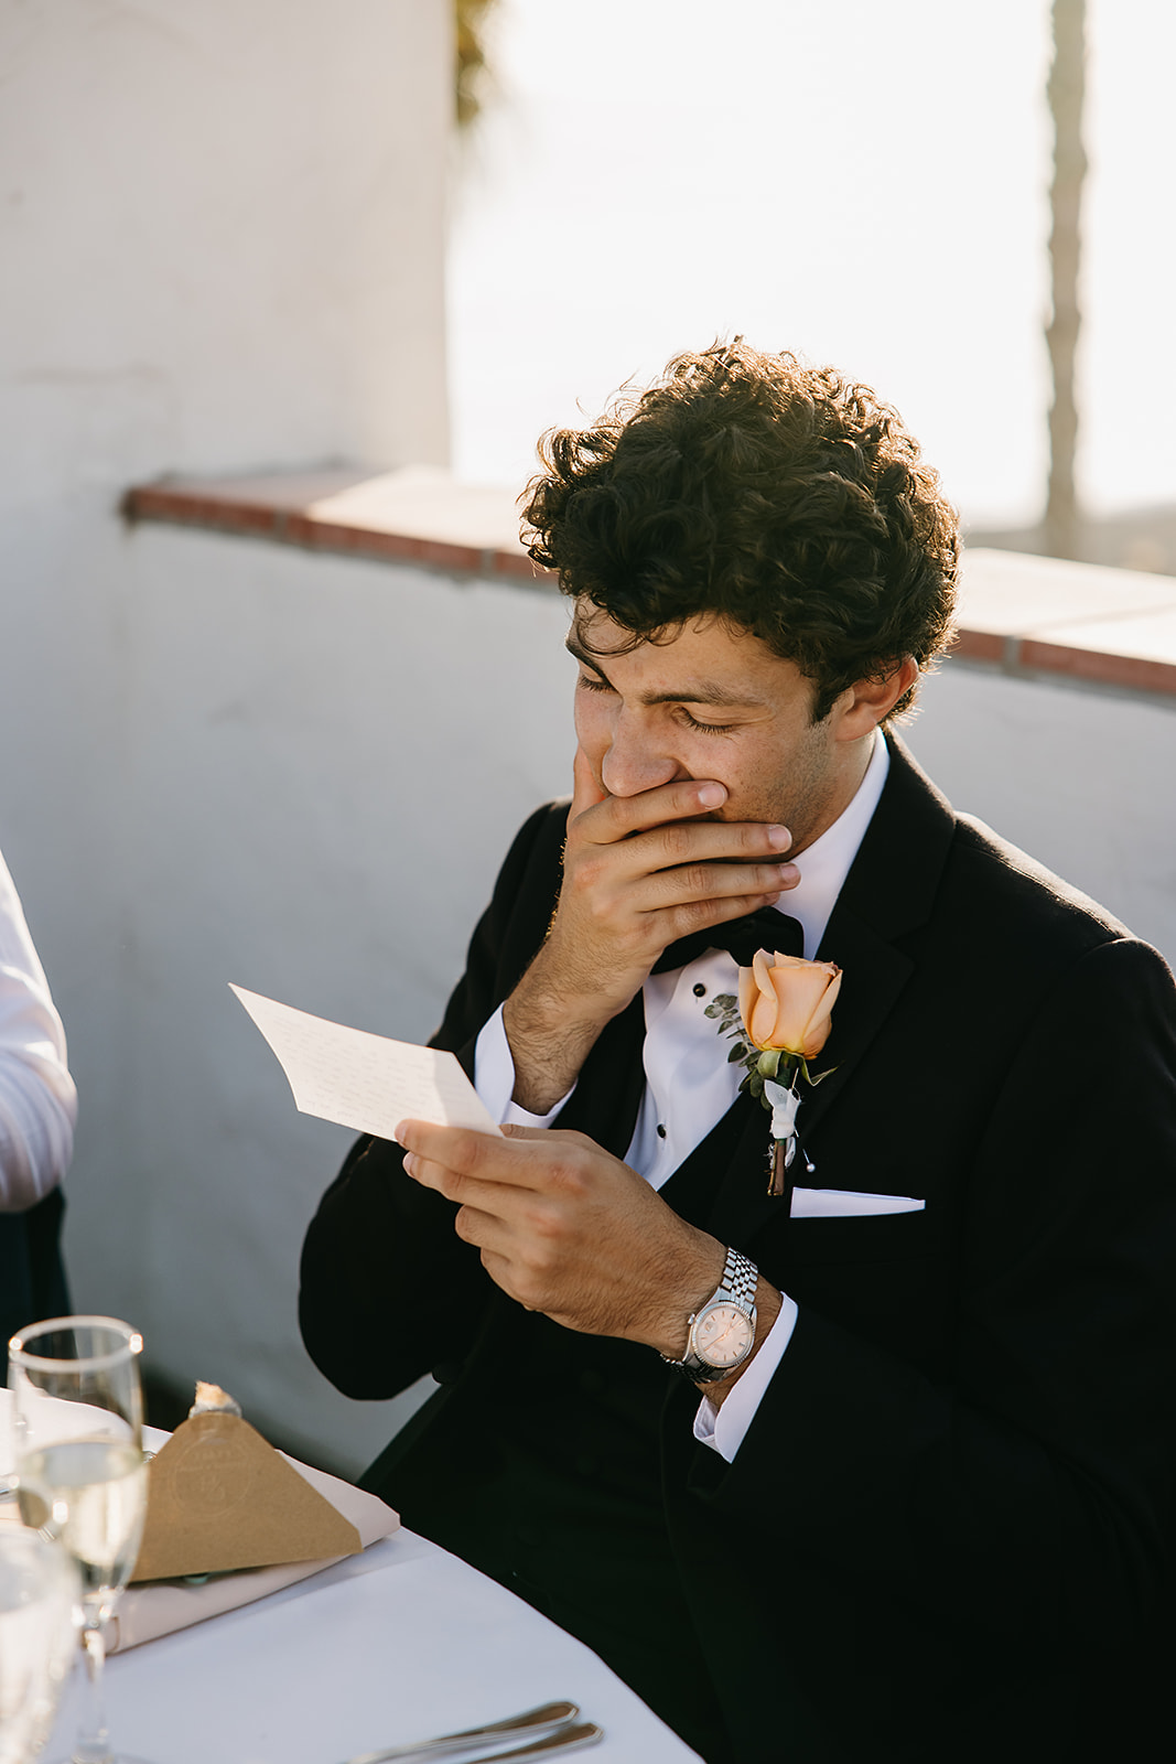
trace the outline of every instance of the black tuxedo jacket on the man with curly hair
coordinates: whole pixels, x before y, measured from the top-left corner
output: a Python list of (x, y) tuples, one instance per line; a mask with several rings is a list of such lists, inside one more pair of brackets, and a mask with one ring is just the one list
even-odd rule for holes
[[(626, 1671), (635, 1630), (612, 1646), (587, 1603), (547, 1609), (703, 1755), (1135, 1755), (1172, 1517), (1172, 981), (892, 746), (822, 940), (845, 970), (822, 1058), (837, 1073), (799, 1125), (813, 1184), (926, 1208), (790, 1219), (763, 1192), (751, 1099), (670, 1178), (672, 1205), (799, 1304), (735, 1462), (695, 1443), (695, 1392), (647, 1349), (524, 1318), (379, 1141), (360, 1141), (307, 1237), (303, 1337), (356, 1397), (435, 1369), (439, 1399), (376, 1466), (409, 1524), (543, 1602), (527, 1526), (495, 1542), (511, 1478), (531, 1506), (550, 1482), (554, 1508), (599, 1519), (584, 1558), (612, 1551), (617, 1603), (665, 1632), (663, 1678)], [(527, 822), (474, 933), (437, 1035), (465, 1058), (543, 937), (564, 818)], [(638, 998), (562, 1118), (619, 1154), (640, 1041)], [(428, 1339), (395, 1327), (406, 1298)], [(585, 1409), (615, 1454), (585, 1457)], [(561, 1549), (571, 1561), (571, 1529)], [(674, 1683), (707, 1662), (711, 1706), (675, 1708)]]

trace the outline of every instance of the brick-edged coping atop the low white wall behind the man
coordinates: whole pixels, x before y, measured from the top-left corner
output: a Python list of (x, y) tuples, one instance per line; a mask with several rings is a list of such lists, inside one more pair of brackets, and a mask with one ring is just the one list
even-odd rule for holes
[[(127, 490), (123, 513), (555, 591), (522, 549), (513, 492), (434, 466), (167, 476)], [(1176, 577), (968, 550), (952, 654), (1176, 697)]]

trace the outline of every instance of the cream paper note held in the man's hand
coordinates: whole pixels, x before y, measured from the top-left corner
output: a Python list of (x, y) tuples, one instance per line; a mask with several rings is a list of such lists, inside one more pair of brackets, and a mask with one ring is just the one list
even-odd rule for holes
[[(231, 983), (229, 983), (231, 984)], [(402, 1120), (499, 1132), (453, 1053), (390, 1041), (233, 986), (303, 1115), (393, 1140)]]

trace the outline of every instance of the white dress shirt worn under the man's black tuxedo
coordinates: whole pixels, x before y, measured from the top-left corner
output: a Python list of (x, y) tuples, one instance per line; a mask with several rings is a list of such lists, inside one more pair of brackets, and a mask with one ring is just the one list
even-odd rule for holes
[[(800, 880), (778, 901), (779, 912), (800, 923), (804, 956), (809, 961), (816, 956), (829, 916), (878, 806), (889, 769), (887, 744), (882, 736), (875, 734), (869, 766), (853, 801), (834, 820), (832, 827), (827, 827), (797, 857)], [(705, 1014), (705, 1007), (716, 993), (735, 993), (737, 990), (739, 968), (725, 949), (711, 949), (696, 961), (670, 974), (651, 974), (642, 988), (645, 1000), (645, 1090), (626, 1164), (645, 1177), (654, 1189), (659, 1189), (705, 1140), (739, 1094), (744, 1067), (728, 1062), (726, 1055), (732, 1044), (728, 1039), (719, 1039), (718, 1023)], [(547, 1115), (531, 1115), (511, 1101), (515, 1062), (501, 1009), (478, 1035), (474, 1088), (499, 1124), (520, 1122), (527, 1127), (550, 1127), (571, 1095), (569, 1090)], [(769, 1118), (765, 1113), (765, 1148), (767, 1132)], [(795, 1321), (797, 1307), (785, 1295), (776, 1323), (721, 1408), (716, 1409), (705, 1397), (700, 1402), (695, 1436), (719, 1452), (728, 1464), (755, 1418), (763, 1392), (792, 1339)]]

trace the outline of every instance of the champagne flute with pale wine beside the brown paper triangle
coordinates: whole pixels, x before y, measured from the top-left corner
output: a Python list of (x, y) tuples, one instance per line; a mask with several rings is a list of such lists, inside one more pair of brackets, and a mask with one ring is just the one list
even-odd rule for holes
[(111, 1752), (104, 1628), (130, 1577), (146, 1517), (143, 1337), (115, 1318), (49, 1318), (9, 1342), (21, 1517), (60, 1538), (81, 1573), (90, 1715), (72, 1764), (136, 1764)]

